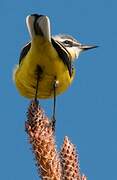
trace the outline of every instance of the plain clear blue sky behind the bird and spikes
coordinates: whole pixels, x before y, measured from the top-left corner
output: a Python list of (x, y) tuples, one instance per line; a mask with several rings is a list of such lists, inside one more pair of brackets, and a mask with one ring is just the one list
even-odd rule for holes
[[(24, 131), (29, 100), (13, 84), (12, 71), (29, 40), (28, 14), (46, 14), (52, 34), (67, 33), (100, 48), (75, 62), (72, 86), (57, 98), (58, 149), (65, 135), (78, 147), (89, 180), (117, 179), (117, 2), (20, 0), (0, 2), (0, 179), (38, 180)], [(52, 101), (42, 100), (50, 116)]]

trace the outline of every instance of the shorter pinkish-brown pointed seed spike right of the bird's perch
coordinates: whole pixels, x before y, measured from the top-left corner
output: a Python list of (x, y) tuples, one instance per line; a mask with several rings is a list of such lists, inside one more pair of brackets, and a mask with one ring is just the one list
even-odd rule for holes
[(64, 138), (64, 143), (60, 155), (63, 171), (63, 180), (81, 180), (76, 148), (70, 142), (67, 136)]

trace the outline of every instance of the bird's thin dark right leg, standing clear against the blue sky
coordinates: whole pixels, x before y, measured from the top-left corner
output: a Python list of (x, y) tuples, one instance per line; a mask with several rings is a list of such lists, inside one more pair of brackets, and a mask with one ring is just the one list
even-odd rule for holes
[(53, 103), (53, 113), (52, 113), (52, 129), (53, 131), (55, 131), (55, 124), (56, 124), (56, 87), (58, 85), (58, 81), (56, 80), (56, 77), (54, 79), (54, 83), (53, 83), (53, 91), (54, 91), (54, 103)]

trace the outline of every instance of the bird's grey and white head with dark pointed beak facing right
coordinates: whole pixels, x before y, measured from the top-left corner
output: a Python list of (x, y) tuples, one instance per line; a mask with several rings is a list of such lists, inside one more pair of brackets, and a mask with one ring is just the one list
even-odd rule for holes
[(68, 51), (72, 61), (77, 59), (81, 52), (98, 47), (96, 45), (81, 44), (70, 35), (57, 35), (53, 38)]

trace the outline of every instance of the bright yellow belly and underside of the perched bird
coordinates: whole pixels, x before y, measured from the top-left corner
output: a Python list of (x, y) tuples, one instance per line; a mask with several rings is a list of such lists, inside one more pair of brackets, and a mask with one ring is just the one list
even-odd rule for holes
[(37, 94), (38, 98), (45, 99), (53, 97), (55, 77), (58, 81), (56, 95), (66, 91), (73, 80), (74, 72), (72, 77), (70, 77), (67, 66), (59, 58), (51, 43), (38, 36), (33, 39), (29, 53), (14, 73), (16, 86), (22, 96), (27, 98), (35, 97), (37, 83), (36, 70), (38, 66), (42, 69)]

